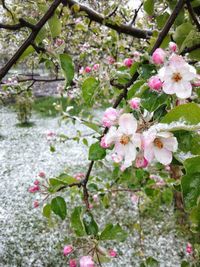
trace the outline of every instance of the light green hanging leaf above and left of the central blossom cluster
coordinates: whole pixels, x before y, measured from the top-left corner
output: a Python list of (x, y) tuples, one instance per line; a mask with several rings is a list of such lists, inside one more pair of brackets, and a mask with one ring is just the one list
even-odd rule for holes
[(87, 105), (92, 106), (94, 103), (94, 94), (99, 88), (99, 81), (94, 77), (87, 78), (82, 84), (83, 99)]

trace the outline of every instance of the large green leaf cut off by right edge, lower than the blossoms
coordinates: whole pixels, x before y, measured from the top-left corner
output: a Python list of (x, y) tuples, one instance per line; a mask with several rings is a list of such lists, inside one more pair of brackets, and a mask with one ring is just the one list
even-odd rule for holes
[(184, 167), (186, 175), (181, 179), (181, 187), (186, 208), (191, 209), (200, 197), (200, 156), (185, 160)]

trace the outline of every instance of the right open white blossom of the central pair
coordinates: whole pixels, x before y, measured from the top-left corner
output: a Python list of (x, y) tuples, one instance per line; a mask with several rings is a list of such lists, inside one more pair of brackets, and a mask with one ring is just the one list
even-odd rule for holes
[(172, 161), (172, 152), (178, 149), (176, 137), (170, 132), (159, 132), (149, 130), (143, 134), (144, 157), (151, 162), (154, 158), (168, 165)]

